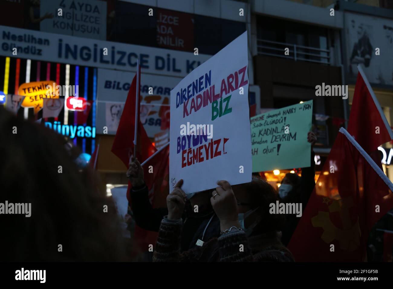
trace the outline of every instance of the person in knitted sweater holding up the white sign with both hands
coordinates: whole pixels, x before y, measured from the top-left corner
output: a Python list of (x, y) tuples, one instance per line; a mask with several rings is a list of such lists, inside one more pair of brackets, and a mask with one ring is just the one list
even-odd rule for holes
[(275, 191), (257, 177), (233, 188), (226, 180), (217, 182), (210, 202), (219, 219), (219, 236), (181, 252), (185, 207), (182, 184), (180, 180), (167, 197), (168, 215), (161, 222), (153, 262), (294, 261), (280, 242), (285, 217), (269, 213), (269, 205), (277, 200)]

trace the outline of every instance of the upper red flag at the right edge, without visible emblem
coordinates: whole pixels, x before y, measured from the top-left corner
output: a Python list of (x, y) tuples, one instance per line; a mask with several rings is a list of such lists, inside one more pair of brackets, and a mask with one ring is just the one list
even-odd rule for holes
[(360, 65), (358, 70), (348, 133), (369, 154), (381, 144), (390, 142), (393, 133)]

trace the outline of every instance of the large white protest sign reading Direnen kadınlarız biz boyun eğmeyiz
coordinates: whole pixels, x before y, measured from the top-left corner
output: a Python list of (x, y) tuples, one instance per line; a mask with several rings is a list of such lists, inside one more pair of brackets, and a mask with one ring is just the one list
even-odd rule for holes
[(171, 189), (180, 179), (185, 193), (251, 181), (247, 53), (244, 32), (171, 90)]

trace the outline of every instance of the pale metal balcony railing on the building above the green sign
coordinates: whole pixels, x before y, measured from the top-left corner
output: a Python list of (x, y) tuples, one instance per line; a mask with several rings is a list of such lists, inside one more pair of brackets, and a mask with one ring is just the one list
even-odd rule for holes
[[(285, 48), (289, 48), (289, 55), (285, 55)], [(331, 64), (331, 51), (309, 46), (301, 46), (277, 41), (257, 39), (257, 51), (260, 55), (270, 55), (293, 59), (294, 61), (310, 61)]]

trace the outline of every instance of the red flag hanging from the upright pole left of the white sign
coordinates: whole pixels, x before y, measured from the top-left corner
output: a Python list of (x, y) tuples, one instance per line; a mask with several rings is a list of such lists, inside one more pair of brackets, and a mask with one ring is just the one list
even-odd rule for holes
[[(140, 87), (140, 67), (137, 69), (137, 74), (132, 80), (130, 90), (128, 92), (127, 100), (125, 101), (123, 113), (119, 121), (118, 130), (112, 145), (112, 153), (114, 153), (128, 169), (130, 155), (134, 154), (134, 137), (135, 137), (135, 114), (136, 114), (136, 88), (137, 78), (139, 79), (138, 87)], [(138, 93), (139, 94), (139, 93)], [(140, 102), (138, 101), (138, 112), (140, 111)], [(156, 151), (152, 145), (145, 129), (138, 117), (137, 129), (137, 147), (136, 157), (140, 162), (146, 160)]]

